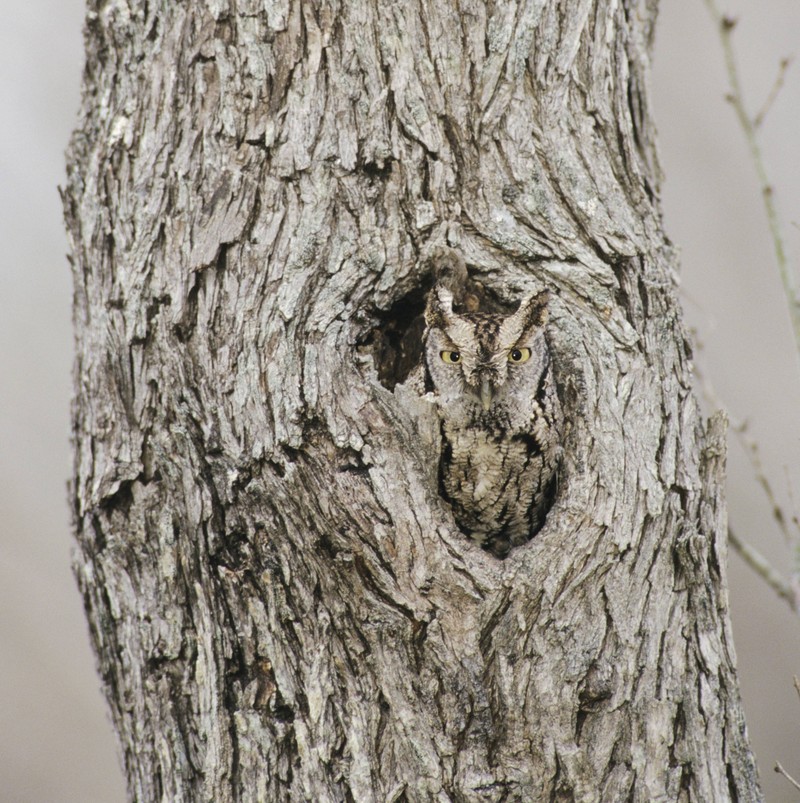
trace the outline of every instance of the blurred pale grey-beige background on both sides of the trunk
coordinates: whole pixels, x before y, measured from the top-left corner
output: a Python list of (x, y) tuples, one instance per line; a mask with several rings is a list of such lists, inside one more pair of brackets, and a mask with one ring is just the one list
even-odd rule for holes
[[(752, 111), (781, 58), (800, 55), (797, 0), (719, 0)], [(662, 0), (653, 69), (663, 205), (682, 254), (696, 363), (747, 419), (780, 504), (800, 504), (800, 359), (759, 185), (725, 101), (722, 49), (703, 0)], [(78, 108), (80, 0), (5, 3), (0, 26), (0, 800), (125, 799), (114, 736), (70, 571), (71, 280), (56, 190)], [(761, 127), (790, 261), (800, 271), (800, 63)], [(744, 450), (730, 439), (729, 512), (788, 574), (792, 549)], [(800, 793), (800, 617), (735, 555), (730, 598), (748, 727), (767, 800)]]

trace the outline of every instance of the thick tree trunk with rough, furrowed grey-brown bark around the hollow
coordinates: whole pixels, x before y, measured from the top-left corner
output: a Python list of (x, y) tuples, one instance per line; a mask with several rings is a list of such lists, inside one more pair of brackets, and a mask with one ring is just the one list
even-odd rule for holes
[[(655, 5), (90, 0), (75, 564), (132, 799), (760, 799)], [(443, 244), (553, 295), (564, 466), (504, 561), (397, 384)]]

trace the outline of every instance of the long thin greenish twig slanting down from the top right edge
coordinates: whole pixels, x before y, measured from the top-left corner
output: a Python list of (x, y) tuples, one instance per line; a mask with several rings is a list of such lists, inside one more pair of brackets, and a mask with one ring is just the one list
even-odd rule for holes
[(705, 4), (708, 6), (708, 10), (714, 21), (717, 23), (717, 29), (719, 30), (720, 40), (722, 42), (722, 50), (725, 55), (725, 67), (728, 72), (728, 83), (730, 84), (728, 100), (731, 102), (736, 116), (739, 119), (739, 124), (744, 132), (747, 145), (750, 148), (750, 156), (753, 159), (753, 164), (758, 174), (758, 181), (761, 185), (761, 198), (764, 202), (764, 209), (767, 213), (767, 221), (772, 235), (775, 260), (778, 263), (784, 293), (786, 294), (786, 300), (789, 304), (789, 315), (792, 321), (795, 345), (800, 355), (800, 297), (798, 296), (795, 286), (795, 278), (786, 258), (780, 221), (778, 219), (777, 210), (775, 209), (772, 185), (767, 176), (764, 159), (761, 155), (761, 148), (758, 144), (756, 132), (757, 124), (747, 113), (744, 105), (744, 95), (742, 93), (741, 82), (739, 81), (739, 68), (736, 64), (736, 56), (733, 51), (732, 42), (732, 34), (733, 29), (736, 27), (736, 20), (733, 17), (722, 14), (717, 7), (716, 0), (705, 0)]

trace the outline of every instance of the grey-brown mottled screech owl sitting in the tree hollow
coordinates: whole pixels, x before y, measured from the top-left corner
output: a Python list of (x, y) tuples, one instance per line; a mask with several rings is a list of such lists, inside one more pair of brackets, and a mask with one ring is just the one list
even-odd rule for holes
[(547, 291), (510, 315), (456, 313), (438, 285), (425, 311), (426, 383), (442, 428), (439, 477), (456, 521), (498, 557), (542, 526), (563, 415), (545, 339)]

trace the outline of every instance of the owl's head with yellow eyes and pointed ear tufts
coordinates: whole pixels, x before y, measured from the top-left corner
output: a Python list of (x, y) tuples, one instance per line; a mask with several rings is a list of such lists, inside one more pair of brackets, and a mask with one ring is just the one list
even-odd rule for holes
[(472, 415), (527, 407), (548, 367), (548, 301), (545, 290), (510, 315), (457, 313), (437, 286), (425, 310), (425, 361), (440, 406)]

